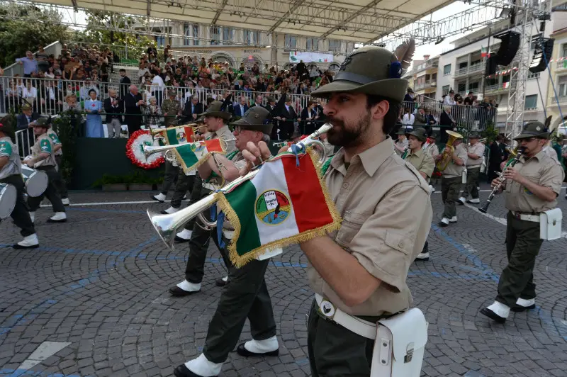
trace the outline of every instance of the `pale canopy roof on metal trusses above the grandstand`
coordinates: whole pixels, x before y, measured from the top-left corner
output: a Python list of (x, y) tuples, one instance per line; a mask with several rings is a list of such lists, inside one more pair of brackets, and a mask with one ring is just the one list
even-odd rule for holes
[(372, 43), (454, 0), (42, 0), (117, 13)]

